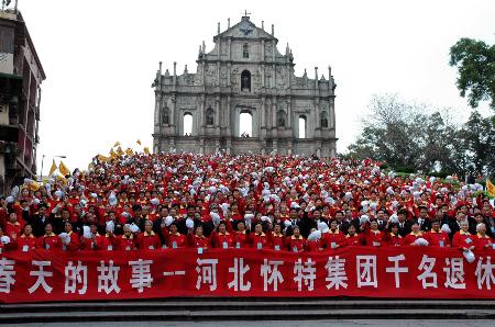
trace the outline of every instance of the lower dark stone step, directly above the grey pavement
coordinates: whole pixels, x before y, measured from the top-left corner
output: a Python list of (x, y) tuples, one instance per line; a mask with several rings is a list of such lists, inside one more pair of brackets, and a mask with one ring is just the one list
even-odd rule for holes
[(100, 311), (2, 313), (0, 324), (177, 320), (307, 320), (307, 319), (494, 319), (495, 309), (231, 309), (231, 311)]

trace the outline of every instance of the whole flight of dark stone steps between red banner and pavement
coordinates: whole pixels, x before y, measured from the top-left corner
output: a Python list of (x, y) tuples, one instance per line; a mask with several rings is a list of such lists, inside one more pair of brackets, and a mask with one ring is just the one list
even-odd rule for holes
[(495, 301), (167, 298), (1, 304), (0, 325), (54, 322), (495, 319)]

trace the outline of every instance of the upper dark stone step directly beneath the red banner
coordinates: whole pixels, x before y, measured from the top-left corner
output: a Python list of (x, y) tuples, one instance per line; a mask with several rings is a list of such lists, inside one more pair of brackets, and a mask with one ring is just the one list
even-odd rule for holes
[(484, 309), (495, 307), (495, 301), (411, 301), (411, 300), (279, 300), (279, 298), (170, 298), (150, 301), (118, 301), (118, 302), (64, 302), (64, 303), (33, 303), (33, 304), (1, 304), (2, 313), (36, 313), (36, 312), (89, 312), (89, 311), (217, 311), (243, 309), (360, 309), (360, 308), (402, 308), (402, 309)]

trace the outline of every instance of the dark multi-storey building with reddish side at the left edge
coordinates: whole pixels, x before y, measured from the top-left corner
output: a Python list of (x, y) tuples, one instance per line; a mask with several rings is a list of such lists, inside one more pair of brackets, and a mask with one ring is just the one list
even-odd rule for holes
[(40, 58), (21, 12), (0, 11), (0, 195), (36, 177)]

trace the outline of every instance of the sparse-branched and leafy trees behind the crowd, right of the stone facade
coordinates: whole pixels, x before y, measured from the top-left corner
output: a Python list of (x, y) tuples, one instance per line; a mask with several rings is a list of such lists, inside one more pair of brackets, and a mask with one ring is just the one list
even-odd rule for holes
[(425, 105), (391, 94), (375, 95), (370, 111), (348, 158), (373, 158), (397, 172), (420, 170), (439, 178), (495, 174), (493, 117), (474, 111), (464, 125), (455, 126), (439, 110), (427, 114)]

